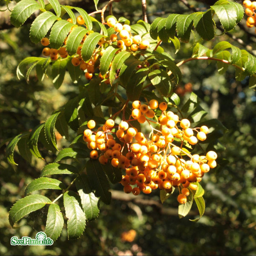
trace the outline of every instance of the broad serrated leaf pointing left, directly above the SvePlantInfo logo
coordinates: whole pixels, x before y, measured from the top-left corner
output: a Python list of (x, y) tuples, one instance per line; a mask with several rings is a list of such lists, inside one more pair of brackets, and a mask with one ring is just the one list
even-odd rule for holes
[(29, 195), (20, 199), (12, 206), (9, 212), (9, 222), (11, 226), (30, 212), (39, 210), (43, 208), (45, 204), (50, 203), (52, 203), (52, 201), (42, 195)]

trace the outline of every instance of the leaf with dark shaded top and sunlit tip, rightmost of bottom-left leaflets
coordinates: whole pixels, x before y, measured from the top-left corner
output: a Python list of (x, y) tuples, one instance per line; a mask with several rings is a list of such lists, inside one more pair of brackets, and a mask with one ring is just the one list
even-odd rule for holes
[(99, 199), (94, 195), (89, 180), (85, 174), (80, 175), (76, 179), (76, 189), (81, 198), (86, 219), (88, 221), (96, 219), (99, 215)]

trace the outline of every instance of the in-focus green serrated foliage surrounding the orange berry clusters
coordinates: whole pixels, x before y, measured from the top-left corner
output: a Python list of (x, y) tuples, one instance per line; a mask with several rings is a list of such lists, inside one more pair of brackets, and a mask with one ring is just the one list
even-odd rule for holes
[[(23, 1), (25, 0), (19, 3)], [(50, 204), (45, 230), (47, 233), (49, 232), (48, 236), (51, 236), (53, 239), (57, 239), (62, 230), (63, 216), (60, 214), (61, 208), (65, 209), (65, 215), (68, 218), (68, 237), (76, 238), (83, 233), (86, 221), (98, 217), (98, 200), (110, 203), (109, 181), (112, 182), (114, 179), (113, 174), (111, 175), (112, 166), (108, 164), (105, 167), (99, 164), (98, 161), (89, 160), (90, 150), (86, 148), (82, 138), (87, 121), (94, 119), (97, 121), (97, 124), (103, 125), (106, 121), (104, 117), (108, 116), (107, 108), (110, 115), (118, 120), (118, 115), (113, 113), (117, 113), (124, 106), (128, 114), (130, 114), (129, 111), (131, 112), (129, 110), (131, 105), (126, 104), (127, 100), (134, 101), (146, 97), (148, 100), (157, 98), (168, 102), (168, 110), (181, 109), (181, 117), (188, 118), (192, 123), (196, 123), (196, 125), (200, 125), (201, 122), (203, 122), (202, 124), (207, 124), (206, 119), (203, 118), (206, 112), (202, 109), (201, 102), (195, 94), (192, 93), (187, 101), (180, 103), (181, 99), (177, 94), (173, 93), (173, 88), (184, 79), (181, 77), (181, 65), (190, 60), (207, 59), (217, 61), (218, 71), (221, 74), (229, 70), (227, 65), (233, 65), (236, 69), (237, 80), (243, 80), (249, 75), (250, 86), (254, 85), (255, 57), (245, 50), (240, 50), (238, 47), (231, 45), (229, 42), (217, 43), (212, 49), (206, 48), (203, 44), (195, 43), (190, 58), (182, 61), (182, 63), (177, 63), (176, 58), (163, 52), (159, 46), (161, 41), (163, 41), (165, 43), (173, 43), (176, 52), (181, 50), (183, 45), (180, 45), (178, 39), (188, 42), (193, 27), (195, 27), (198, 36), (202, 37), (202, 39), (210, 40), (214, 38), (215, 35), (214, 33), (212, 34), (212, 31), (214, 32), (216, 29), (216, 23), (212, 19), (214, 13), (218, 16), (226, 31), (233, 29), (242, 18), (241, 7), (237, 3), (218, 1), (206, 12), (183, 16), (171, 14), (167, 18), (156, 19), (152, 25), (142, 21), (131, 25), (134, 34), (143, 35), (142, 38), (150, 41), (150, 47), (148, 49), (139, 49), (136, 52), (131, 52), (127, 49), (115, 54), (119, 48), (115, 44), (108, 46), (105, 43), (106, 52), (99, 57), (99, 69), (90, 81), (85, 81), (82, 76), (83, 72), (78, 67), (71, 65), (71, 59), (76, 56), (76, 50), (84, 33), (92, 29), (94, 31), (98, 29), (99, 31), (99, 33), (95, 31), (89, 34), (83, 43), (81, 55), (83, 60), (87, 61), (94, 55), (95, 49), (98, 47), (98, 41), (102, 38), (100, 28), (106, 41), (108, 36), (113, 33), (111, 28), (106, 30), (104, 29), (105, 26), (99, 25), (101, 23), (91, 18), (85, 11), (78, 8), (61, 6), (57, 1), (50, 2), (48, 6), (43, 6), (42, 3), (40, 6), (37, 2), (28, 1), (26, 3), (27, 6), (31, 5), (29, 12), (22, 9), (25, 6), (24, 3), (19, 3), (15, 7), (16, 9), (14, 8), (14, 12), (12, 12), (12, 23), (15, 26), (22, 25), (35, 10), (40, 8), (42, 13), (31, 25), (31, 41), (37, 43), (47, 33), (50, 33), (50, 46), (52, 48), (60, 48), (68, 35), (66, 48), (69, 55), (66, 58), (59, 58), (55, 61), (42, 57), (28, 57), (19, 64), (17, 75), (29, 79), (31, 74), (33, 74), (33, 68), (35, 68), (39, 80), (44, 79), (44, 76), (50, 76), (53, 79), (54, 86), (58, 89), (64, 81), (66, 70), (68, 70), (73, 82), (79, 86), (79, 93), (72, 97), (63, 108), (55, 110), (44, 123), (38, 124), (31, 132), (16, 136), (9, 142), (6, 148), (8, 160), (15, 164), (15, 148), (18, 148), (20, 155), (28, 161), (31, 161), (34, 157), (42, 159), (47, 157), (46, 154), (42, 154), (42, 145), (50, 150), (52, 152), (50, 154), (53, 154), (53, 157), (55, 157), (56, 151), (59, 150), (55, 137), (56, 129), (64, 138), (69, 138), (69, 141), (71, 141), (67, 148), (62, 148), (58, 152), (54, 163), (45, 165), (42, 169), (41, 177), (36, 177), (31, 181), (26, 188), (26, 193), (29, 194), (41, 189), (57, 190), (54, 193), (51, 193), (50, 190), (47, 191), (47, 197), (44, 196), (47, 199), (41, 202), (40, 206), (35, 206), (34, 208), (27, 207), (29, 206), (28, 202), (31, 196), (34, 196), (37, 200), (40, 199), (41, 195), (33, 194), (19, 200), (10, 211), (10, 222), (13, 224), (25, 216), (19, 214), (19, 206), (23, 202), (25, 202), (25, 209), (29, 209), (26, 211), (26, 214), (38, 210), (38, 207), (44, 207), (45, 204)], [(55, 14), (49, 11), (51, 8), (53, 8)], [(221, 16), (220, 13), (223, 13), (223, 9), (227, 10), (228, 13), (233, 13), (233, 15), (230, 15), (232, 18), (229, 15)], [(79, 12), (83, 16), (85, 27), (76, 26), (68, 34), (72, 24), (66, 22), (64, 18), (66, 16), (62, 15), (66, 12), (74, 20), (73, 11)], [(17, 17), (18, 15), (15, 16), (15, 12), (22, 15)], [(176, 19), (178, 22), (175, 21), (174, 16), (178, 18)], [(119, 20), (123, 22), (122, 19)], [(172, 20), (173, 24), (171, 27), (168, 27), (170, 20)], [(41, 29), (40, 24), (42, 23), (47, 26), (42, 26)], [(199, 28), (202, 27), (202, 24), (206, 24), (208, 29), (201, 31)], [(110, 63), (112, 65), (109, 69)], [(136, 70), (138, 65), (141, 65), (143, 68)], [(98, 72), (103, 75), (103, 80), (98, 78)], [(104, 77), (108, 72), (111, 86), (104, 83), (104, 81), (108, 80), (106, 76)], [(122, 112), (119, 113), (122, 114)], [(213, 146), (215, 150), (219, 150), (218, 138), (226, 131), (226, 128), (217, 120), (210, 120), (207, 125), (212, 130), (207, 140), (202, 143), (202, 148), (192, 147), (193, 154), (207, 152), (210, 149), (214, 149)], [(210, 146), (208, 146), (209, 144)], [(86, 173), (84, 168), (86, 168)], [(110, 175), (105, 175), (105, 172), (106, 174), (110, 173)], [(95, 174), (99, 178), (96, 179)], [(47, 178), (46, 180), (48, 175), (53, 175), (54, 178)], [(67, 180), (63, 181), (64, 183), (60, 181), (63, 175), (69, 176), (68, 182)], [(120, 175), (121, 172), (119, 172)], [(113, 183), (118, 181), (120, 181), (120, 178), (119, 180), (117, 178)], [(61, 189), (63, 191), (58, 193)], [(74, 193), (74, 191), (78, 193)], [(200, 217), (203, 215), (205, 207), (202, 191), (197, 190), (193, 196), (190, 194), (190, 200), (188, 200), (190, 204), (193, 198), (195, 199)], [(63, 203), (59, 200), (61, 196), (63, 196)], [(192, 204), (189, 204), (186, 203), (179, 206), (180, 216), (187, 215), (192, 206)], [(78, 220), (80, 221), (78, 222)], [(53, 223), (55, 223), (56, 229), (52, 226), (54, 225)], [(55, 233), (51, 233), (53, 230), (56, 230)]]

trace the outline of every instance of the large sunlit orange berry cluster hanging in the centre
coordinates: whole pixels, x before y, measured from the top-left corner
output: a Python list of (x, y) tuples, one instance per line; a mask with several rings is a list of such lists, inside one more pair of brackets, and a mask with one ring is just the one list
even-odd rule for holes
[[(170, 193), (178, 187), (178, 202), (186, 203), (190, 189), (197, 189), (192, 183), (200, 182), (204, 173), (217, 165), (214, 151), (201, 156), (188, 151), (189, 145), (206, 139), (208, 127), (191, 128), (188, 119), (180, 120), (177, 114), (167, 111), (166, 102), (158, 103), (155, 99), (148, 104), (134, 101), (132, 107), (132, 119), (122, 120), (119, 125), (108, 119), (94, 132), (95, 121), (88, 122), (83, 139), (91, 150), (90, 157), (98, 158), (101, 164), (110, 161), (112, 166), (124, 170), (120, 183), (125, 193), (139, 195), (157, 188)], [(129, 124), (134, 120), (149, 124), (149, 136)]]

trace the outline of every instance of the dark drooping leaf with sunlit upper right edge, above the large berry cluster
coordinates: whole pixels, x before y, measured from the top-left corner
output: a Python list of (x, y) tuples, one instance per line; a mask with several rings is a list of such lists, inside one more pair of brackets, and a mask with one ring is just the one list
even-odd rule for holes
[(142, 92), (143, 82), (146, 80), (147, 75), (147, 68), (140, 68), (131, 74), (126, 86), (126, 94), (130, 101), (139, 99)]

